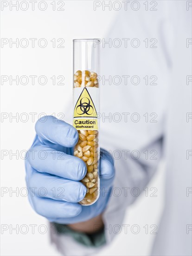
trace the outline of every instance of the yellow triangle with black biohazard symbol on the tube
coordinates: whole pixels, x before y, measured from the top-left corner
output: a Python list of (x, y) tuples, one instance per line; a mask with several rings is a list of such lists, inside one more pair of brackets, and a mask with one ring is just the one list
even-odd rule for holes
[(97, 117), (95, 105), (87, 88), (83, 89), (77, 100), (74, 109), (74, 118), (75, 117)]

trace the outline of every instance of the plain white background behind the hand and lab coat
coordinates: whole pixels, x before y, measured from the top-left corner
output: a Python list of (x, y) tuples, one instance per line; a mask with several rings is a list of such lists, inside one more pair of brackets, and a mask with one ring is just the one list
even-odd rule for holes
[[(11, 1), (7, 1), (10, 5)], [(15, 1), (12, 1), (13, 3)], [(19, 1), (21, 2), (21, 1)], [(48, 79), (46, 85), (39, 85), (38, 82), (32, 85), (13, 85), (9, 81), (1, 83), (1, 112), (7, 113), (6, 119), (1, 119), (1, 158), (2, 152), (8, 152), (1, 162), (1, 187), (6, 187), (10, 191), (11, 188), (19, 190), (26, 186), (25, 183), (25, 166), (24, 154), (16, 159), (11, 157), (10, 150), (15, 153), (17, 150), (27, 150), (32, 144), (35, 131), (34, 124), (40, 113), (51, 115), (53, 113), (65, 113), (65, 120), (72, 123), (72, 39), (75, 38), (102, 38), (107, 33), (111, 22), (118, 14), (115, 10), (102, 11), (99, 9), (94, 11), (93, 1), (64, 1), (64, 11), (53, 11), (51, 2), (46, 1), (47, 9), (41, 11), (35, 5), (29, 9), (22, 11), (10, 10), (10, 6), (5, 7), (1, 11), (1, 38), (45, 38), (48, 42), (47, 47), (38, 47), (38, 40), (35, 41), (35, 47), (32, 48), (31, 41), (26, 48), (11, 48), (9, 44), (1, 48), (1, 58), (3, 67), (1, 67), (1, 75), (45, 75)], [(57, 1), (56, 8), (57, 8)], [(43, 7), (43, 5), (42, 5)], [(23, 8), (25, 6), (23, 5)], [(51, 40), (55, 38), (64, 38), (64, 48), (52, 47)], [(52, 85), (50, 79), (53, 75), (63, 75), (65, 77), (64, 85)], [(71, 106), (70, 108), (64, 107)], [(10, 119), (11, 115), (19, 113), (19, 118)], [(26, 113), (29, 117), (21, 115)], [(35, 119), (29, 113), (37, 113)], [(4, 115), (4, 116), (5, 116)], [(2, 151), (4, 150), (4, 151)], [(7, 151), (6, 151), (7, 150)], [(12, 158), (12, 159), (11, 159)], [(128, 234), (122, 232), (116, 236), (114, 242), (100, 252), (100, 255), (148, 255), (154, 236), (145, 234), (143, 226), (146, 224), (158, 225), (160, 213), (163, 205), (163, 166), (157, 175), (148, 184), (148, 188), (157, 188), (157, 197), (145, 196), (145, 192), (136, 203), (131, 206), (123, 223), (130, 226), (137, 224), (141, 230), (139, 234), (133, 234), (128, 228)], [(25, 190), (23, 190), (25, 193)], [(158, 207), (154, 208), (155, 205)], [(157, 203), (158, 201), (158, 203)], [(58, 255), (58, 252), (51, 246), (49, 240), (49, 232), (40, 234), (37, 227), (41, 224), (47, 225), (44, 217), (38, 216), (29, 205), (25, 196), (17, 196), (9, 192), (1, 193), (1, 225), (8, 225), (8, 230), (2, 231), (1, 235), (1, 255)], [(19, 227), (23, 224), (36, 224), (35, 234), (29, 229), (27, 234), (10, 233), (10, 225)], [(4, 226), (5, 227), (5, 226)], [(1, 226), (2, 228), (2, 226)], [(25, 229), (23, 229), (25, 231)], [(43, 231), (43, 229), (42, 229)], [(151, 231), (151, 230), (150, 230)]]

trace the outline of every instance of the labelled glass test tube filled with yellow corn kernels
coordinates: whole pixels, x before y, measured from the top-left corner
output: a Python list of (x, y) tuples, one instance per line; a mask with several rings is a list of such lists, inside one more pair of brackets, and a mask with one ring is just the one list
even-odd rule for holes
[(99, 119), (100, 111), (100, 40), (73, 40), (73, 126), (79, 140), (74, 155), (87, 166), (87, 173), (81, 182), (87, 193), (79, 202), (89, 206), (99, 197)]

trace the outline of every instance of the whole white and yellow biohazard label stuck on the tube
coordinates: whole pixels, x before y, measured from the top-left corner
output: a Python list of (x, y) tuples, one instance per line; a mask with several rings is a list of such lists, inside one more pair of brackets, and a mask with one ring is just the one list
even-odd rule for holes
[(97, 109), (99, 108), (98, 88), (74, 88), (73, 126), (77, 129), (98, 130)]

